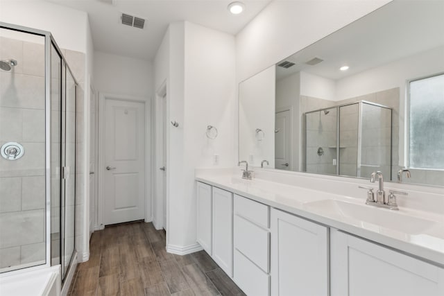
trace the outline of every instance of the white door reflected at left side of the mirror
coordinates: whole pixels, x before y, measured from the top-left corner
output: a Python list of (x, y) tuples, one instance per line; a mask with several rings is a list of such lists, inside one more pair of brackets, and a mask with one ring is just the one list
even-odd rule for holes
[(275, 168), (291, 170), (290, 110), (277, 112), (275, 116)]

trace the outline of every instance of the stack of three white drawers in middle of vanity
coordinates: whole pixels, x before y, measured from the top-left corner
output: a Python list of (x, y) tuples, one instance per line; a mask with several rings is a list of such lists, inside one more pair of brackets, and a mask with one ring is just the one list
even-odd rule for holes
[(246, 295), (270, 295), (269, 207), (234, 194), (233, 279)]

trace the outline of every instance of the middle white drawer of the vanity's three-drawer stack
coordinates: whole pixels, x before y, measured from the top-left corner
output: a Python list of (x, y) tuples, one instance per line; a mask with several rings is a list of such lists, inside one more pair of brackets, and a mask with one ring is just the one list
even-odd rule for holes
[(239, 250), (264, 272), (269, 272), (270, 233), (234, 215), (234, 249)]

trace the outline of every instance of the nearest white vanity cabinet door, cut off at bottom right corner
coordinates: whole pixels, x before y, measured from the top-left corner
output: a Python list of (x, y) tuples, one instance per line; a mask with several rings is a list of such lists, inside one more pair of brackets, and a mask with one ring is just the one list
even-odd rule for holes
[(332, 230), (331, 295), (444, 295), (444, 270)]

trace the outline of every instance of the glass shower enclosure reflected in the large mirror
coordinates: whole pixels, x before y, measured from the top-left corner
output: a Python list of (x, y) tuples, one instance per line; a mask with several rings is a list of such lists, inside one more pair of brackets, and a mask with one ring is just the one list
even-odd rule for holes
[(391, 180), (390, 107), (360, 101), (304, 114), (304, 171)]

